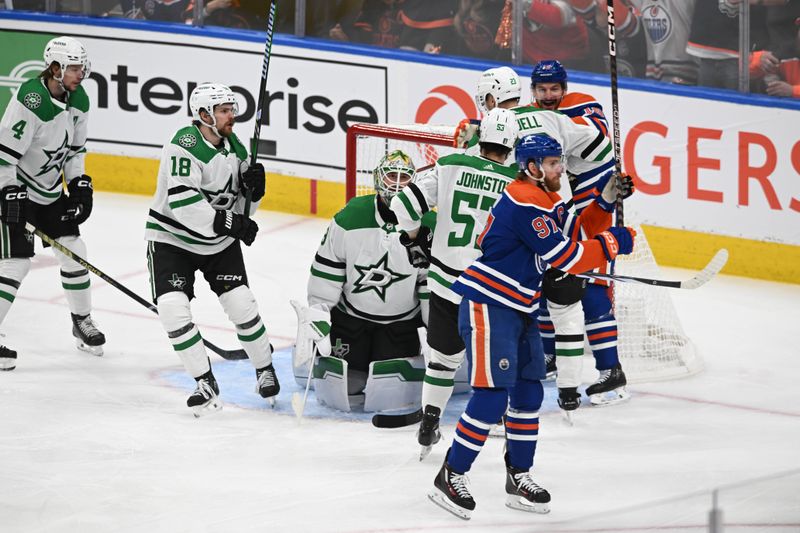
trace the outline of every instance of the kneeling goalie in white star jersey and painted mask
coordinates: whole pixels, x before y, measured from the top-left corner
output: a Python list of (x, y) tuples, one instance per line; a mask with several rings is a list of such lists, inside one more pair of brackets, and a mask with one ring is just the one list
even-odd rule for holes
[[(418, 329), (427, 321), (427, 269), (409, 262), (389, 209), (414, 182), (416, 169), (396, 150), (373, 176), (376, 193), (350, 200), (328, 226), (311, 265), (308, 311), (298, 311), (295, 375), (305, 378), (312, 362), (308, 339), (322, 341), (317, 398), (342, 410), (361, 392), (366, 411), (409, 407), (421, 390), (415, 368), (424, 366)], [(326, 322), (329, 339), (323, 339), (324, 325), (320, 332)]]

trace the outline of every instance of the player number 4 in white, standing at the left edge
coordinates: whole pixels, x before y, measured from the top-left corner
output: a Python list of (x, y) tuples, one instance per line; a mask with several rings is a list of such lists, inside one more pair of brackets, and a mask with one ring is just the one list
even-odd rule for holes
[[(20, 86), (0, 122), (0, 322), (34, 254), (26, 222), (86, 257), (78, 226), (92, 212), (92, 179), (84, 169), (89, 98), (81, 86), (89, 59), (79, 41), (57, 37), (47, 43), (44, 60), (47, 68)], [(103, 355), (105, 336), (91, 317), (89, 271), (54, 254), (78, 348)], [(14, 350), (0, 346), (0, 370), (13, 370), (16, 359)]]

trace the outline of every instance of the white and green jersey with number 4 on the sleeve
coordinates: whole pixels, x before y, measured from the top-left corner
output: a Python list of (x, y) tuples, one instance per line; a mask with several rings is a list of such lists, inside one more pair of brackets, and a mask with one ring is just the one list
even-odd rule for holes
[(84, 174), (89, 97), (83, 87), (61, 102), (42, 78), (23, 83), (0, 122), (0, 188), (22, 184), (40, 205), (58, 200), (67, 183)]

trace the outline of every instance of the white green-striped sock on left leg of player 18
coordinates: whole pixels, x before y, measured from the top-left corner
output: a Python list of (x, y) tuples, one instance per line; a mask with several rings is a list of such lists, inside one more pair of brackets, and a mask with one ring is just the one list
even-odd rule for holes
[(200, 330), (192, 322), (189, 297), (179, 291), (162, 294), (158, 297), (158, 317), (186, 371), (197, 379), (211, 370)]

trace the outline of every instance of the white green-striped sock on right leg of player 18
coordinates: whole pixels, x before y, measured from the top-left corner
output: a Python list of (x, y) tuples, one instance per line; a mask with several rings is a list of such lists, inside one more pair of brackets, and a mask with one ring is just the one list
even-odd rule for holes
[(219, 301), (236, 326), (236, 335), (253, 367), (260, 369), (272, 363), (267, 328), (258, 314), (258, 305), (250, 288), (244, 285), (236, 287), (220, 294)]

